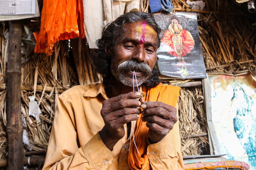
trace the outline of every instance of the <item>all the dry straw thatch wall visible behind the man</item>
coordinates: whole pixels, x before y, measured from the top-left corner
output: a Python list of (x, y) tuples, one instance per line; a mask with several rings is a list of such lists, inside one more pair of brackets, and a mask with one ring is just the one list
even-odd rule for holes
[[(147, 2), (144, 0), (144, 2)], [(185, 0), (173, 0), (174, 7), (188, 9)], [(146, 10), (147, 3), (141, 9)], [(242, 12), (236, 2), (206, 1), (208, 14), (198, 16), (198, 26), (204, 61), (207, 71), (239, 73), (243, 70), (255, 70), (255, 52), (253, 39), (255, 30), (250, 26), (250, 16)], [(239, 15), (237, 15), (239, 14)], [(7, 154), (6, 128), (6, 52), (4, 45), (5, 25), (0, 22), (0, 158)], [(26, 37), (25, 37), (26, 38)], [(27, 122), (27, 134), (33, 150), (46, 150), (54, 118), (56, 99), (66, 89), (78, 84), (89, 84), (100, 80), (89, 60), (89, 49), (85, 40), (73, 39), (72, 53), (68, 42), (60, 42), (52, 56), (31, 53), (23, 57), (21, 111)], [(24, 43), (26, 45), (26, 43)], [(25, 48), (25, 47), (24, 47)], [(249, 61), (249, 62), (248, 62)], [(37, 85), (46, 87), (34, 90)], [(29, 96), (35, 95), (42, 114), (41, 123), (28, 116)], [(192, 134), (207, 132), (204, 96), (201, 87), (183, 88), (179, 98), (180, 135), (183, 155), (208, 153), (208, 138), (188, 138)]]

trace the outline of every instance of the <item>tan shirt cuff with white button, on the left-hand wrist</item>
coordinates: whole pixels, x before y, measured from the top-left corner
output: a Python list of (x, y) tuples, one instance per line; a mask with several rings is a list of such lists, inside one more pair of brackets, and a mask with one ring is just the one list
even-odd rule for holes
[(83, 147), (84, 155), (95, 169), (105, 170), (114, 161), (111, 152), (101, 140), (99, 132)]

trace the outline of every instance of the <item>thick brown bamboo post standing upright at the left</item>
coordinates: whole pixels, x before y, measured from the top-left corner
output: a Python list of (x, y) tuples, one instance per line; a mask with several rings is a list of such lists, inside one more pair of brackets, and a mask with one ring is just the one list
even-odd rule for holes
[(8, 169), (23, 169), (23, 126), (21, 120), (21, 21), (9, 21), (7, 61)]

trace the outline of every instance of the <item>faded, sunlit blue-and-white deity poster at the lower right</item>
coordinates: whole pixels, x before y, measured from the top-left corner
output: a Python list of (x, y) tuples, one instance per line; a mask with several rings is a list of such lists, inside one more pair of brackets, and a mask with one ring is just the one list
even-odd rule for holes
[[(209, 76), (215, 154), (244, 161), (256, 170), (256, 81), (251, 74)], [(208, 125), (210, 124), (208, 120)], [(211, 129), (211, 128), (209, 128)]]

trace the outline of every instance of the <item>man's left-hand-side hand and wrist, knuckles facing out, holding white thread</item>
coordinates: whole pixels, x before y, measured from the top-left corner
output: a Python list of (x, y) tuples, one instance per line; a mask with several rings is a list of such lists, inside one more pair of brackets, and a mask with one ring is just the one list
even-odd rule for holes
[(124, 137), (124, 124), (139, 118), (141, 103), (137, 100), (140, 92), (130, 92), (103, 101), (101, 116), (105, 126), (99, 132), (102, 141), (109, 150)]

